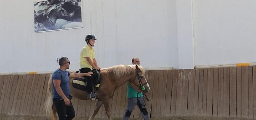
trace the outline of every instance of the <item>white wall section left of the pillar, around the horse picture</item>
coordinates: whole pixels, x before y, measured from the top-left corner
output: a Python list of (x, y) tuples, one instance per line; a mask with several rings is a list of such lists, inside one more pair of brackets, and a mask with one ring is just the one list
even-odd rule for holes
[(176, 0), (82, 0), (83, 28), (34, 33), (33, 0), (0, 5), (0, 73), (53, 71), (57, 57), (79, 69), (80, 49), (94, 34), (100, 67), (131, 64), (179, 67)]

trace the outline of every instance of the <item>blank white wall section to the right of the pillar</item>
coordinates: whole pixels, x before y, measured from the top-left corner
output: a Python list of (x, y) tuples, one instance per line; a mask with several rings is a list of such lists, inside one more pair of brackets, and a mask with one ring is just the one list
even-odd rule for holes
[(193, 0), (195, 65), (255, 62), (255, 0)]

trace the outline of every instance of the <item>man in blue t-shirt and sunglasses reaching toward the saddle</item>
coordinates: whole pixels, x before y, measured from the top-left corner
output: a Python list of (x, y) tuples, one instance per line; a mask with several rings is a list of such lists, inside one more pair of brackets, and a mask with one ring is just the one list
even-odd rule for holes
[(91, 76), (92, 72), (88, 73), (70, 73), (70, 61), (67, 57), (62, 57), (59, 60), (60, 68), (52, 73), (52, 88), (53, 88), (53, 104), (57, 109), (59, 120), (71, 120), (75, 117), (75, 110), (69, 100), (70, 87), (69, 78)]

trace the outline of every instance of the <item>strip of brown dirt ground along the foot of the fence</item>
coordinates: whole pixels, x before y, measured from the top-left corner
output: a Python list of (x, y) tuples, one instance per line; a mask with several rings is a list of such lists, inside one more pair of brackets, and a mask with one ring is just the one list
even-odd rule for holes
[[(73, 120), (87, 120), (88, 117), (75, 117)], [(113, 120), (121, 120), (122, 118), (113, 118)], [(0, 114), (0, 120), (52, 120), (50, 116), (9, 116), (5, 114)], [(95, 120), (106, 120), (98, 119)], [(130, 120), (143, 120), (142, 118), (130, 119)], [(249, 120), (245, 118), (233, 118), (233, 117), (210, 117), (210, 116), (173, 116), (173, 117), (160, 117), (151, 118), (150, 120)]]

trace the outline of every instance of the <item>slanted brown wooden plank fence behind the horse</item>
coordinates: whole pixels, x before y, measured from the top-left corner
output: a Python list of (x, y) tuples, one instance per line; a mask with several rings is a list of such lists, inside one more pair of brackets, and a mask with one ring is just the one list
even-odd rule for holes
[[(44, 116), (50, 74), (1, 75), (0, 113)], [(174, 115), (232, 116), (256, 119), (256, 66), (149, 70), (146, 102), (151, 117)], [(115, 91), (111, 115), (122, 117), (127, 84)], [(92, 114), (96, 101), (72, 99), (76, 116)], [(138, 107), (131, 117), (139, 117)], [(96, 117), (105, 118), (101, 107)]]

